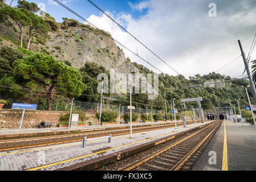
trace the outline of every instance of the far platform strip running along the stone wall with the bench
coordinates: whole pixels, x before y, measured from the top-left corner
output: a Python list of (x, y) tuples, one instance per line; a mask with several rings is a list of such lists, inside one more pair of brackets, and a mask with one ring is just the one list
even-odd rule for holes
[[(177, 121), (180, 123), (182, 121)], [(200, 122), (200, 121), (197, 121)], [(145, 126), (145, 125), (165, 125), (168, 123), (174, 123), (174, 121), (165, 121), (165, 122), (145, 122), (145, 123), (132, 123), (132, 126)], [(55, 134), (67, 134), (74, 133), (76, 131), (97, 131), (103, 129), (113, 129), (119, 127), (129, 127), (129, 124), (120, 124), (120, 125), (93, 125), (93, 126), (80, 126), (80, 127), (52, 127), (52, 128), (41, 128), (41, 129), (1, 129), (0, 130), (0, 139), (4, 138), (15, 138), (15, 137), (30, 137), (30, 136), (40, 136), (40, 135), (55, 135)]]

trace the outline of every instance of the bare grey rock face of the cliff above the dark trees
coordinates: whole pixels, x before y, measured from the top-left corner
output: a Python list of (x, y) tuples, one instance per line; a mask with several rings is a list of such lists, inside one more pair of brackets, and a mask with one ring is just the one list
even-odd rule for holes
[[(74, 27), (70, 31), (49, 32), (50, 41), (46, 46), (55, 51), (59, 59), (68, 60), (80, 68), (89, 61), (102, 65), (107, 70), (114, 68), (117, 73), (139, 72), (124, 56), (109, 35), (98, 35), (88, 28)], [(52, 41), (53, 40), (53, 41)]]

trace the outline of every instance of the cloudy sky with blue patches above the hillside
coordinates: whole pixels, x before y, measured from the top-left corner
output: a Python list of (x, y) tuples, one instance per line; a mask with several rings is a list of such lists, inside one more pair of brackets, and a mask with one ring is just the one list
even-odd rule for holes
[[(152, 55), (122, 31), (107, 16), (100, 13), (87, 0), (60, 0), (66, 6), (82, 15), (97, 27), (108, 31), (113, 38), (137, 52), (162, 72), (176, 75), (171, 68)], [(44, 3), (46, 12), (58, 22), (62, 17), (78, 19), (52, 0), (34, 0)], [(216, 72), (225, 64), (241, 55), (237, 40), (242, 42), (245, 53), (249, 53), (256, 33), (255, 0), (92, 0), (111, 15), (131, 34), (160, 56), (178, 73), (188, 77)], [(10, 3), (8, 0), (7, 3)], [(17, 1), (14, 2), (17, 3)], [(216, 4), (216, 17), (210, 3)], [(256, 49), (256, 47), (255, 47)], [(251, 60), (256, 59), (256, 50)], [(125, 51), (132, 61), (143, 64), (157, 72), (150, 65)], [(148, 57), (148, 58), (147, 58)], [(244, 69), (242, 57), (221, 69), (218, 73), (232, 77), (241, 76)]]

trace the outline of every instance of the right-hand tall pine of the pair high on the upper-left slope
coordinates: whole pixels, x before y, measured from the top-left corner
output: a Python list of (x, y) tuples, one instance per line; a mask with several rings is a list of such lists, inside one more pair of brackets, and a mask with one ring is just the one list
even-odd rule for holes
[(36, 34), (46, 36), (48, 30), (46, 28), (46, 22), (42, 18), (26, 9), (22, 9), (21, 11), (29, 18), (26, 23), (27, 28), (29, 28), (29, 42), (27, 43), (27, 50), (29, 50), (32, 36)]

